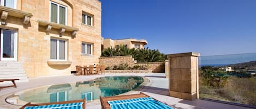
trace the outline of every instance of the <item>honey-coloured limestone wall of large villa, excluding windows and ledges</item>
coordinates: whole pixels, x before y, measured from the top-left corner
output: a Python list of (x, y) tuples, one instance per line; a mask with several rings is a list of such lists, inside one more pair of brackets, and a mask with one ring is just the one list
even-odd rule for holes
[[(52, 2), (67, 6), (67, 26), (78, 28), (78, 33), (73, 37), (69, 32), (59, 35), (59, 30), (52, 28), (45, 31), (39, 25), (39, 20), (49, 22), (50, 1), (17, 1), (17, 10), (29, 12), (33, 16), (28, 24), (22, 23), (22, 18), (9, 16), (6, 25), (1, 29), (17, 31), (17, 61), (22, 63), (28, 78), (40, 76), (70, 75), (76, 70), (76, 65), (98, 64), (101, 54), (101, 2), (98, 0), (51, 0)], [(82, 12), (93, 15), (93, 26), (82, 24)], [(0, 20), (2, 21), (2, 20)], [(49, 65), (51, 38), (67, 41), (67, 62), (70, 65)], [(91, 43), (92, 55), (81, 54), (81, 43)]]

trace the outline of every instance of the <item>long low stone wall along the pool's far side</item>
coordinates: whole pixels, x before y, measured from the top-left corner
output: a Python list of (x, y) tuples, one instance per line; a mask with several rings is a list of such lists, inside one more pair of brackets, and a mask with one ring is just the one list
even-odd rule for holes
[(152, 69), (138, 70), (105, 70), (105, 73), (152, 73)]

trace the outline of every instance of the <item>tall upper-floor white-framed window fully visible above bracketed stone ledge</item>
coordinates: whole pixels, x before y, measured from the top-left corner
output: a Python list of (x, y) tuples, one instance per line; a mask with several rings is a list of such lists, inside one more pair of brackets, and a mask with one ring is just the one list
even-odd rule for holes
[(50, 2), (50, 21), (67, 25), (67, 7)]

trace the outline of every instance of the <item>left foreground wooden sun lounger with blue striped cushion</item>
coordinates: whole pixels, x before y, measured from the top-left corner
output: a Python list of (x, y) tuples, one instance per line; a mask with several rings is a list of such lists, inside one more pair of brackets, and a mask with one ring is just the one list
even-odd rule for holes
[(20, 109), (85, 109), (86, 98), (83, 100), (61, 101), (61, 102), (49, 102), (43, 104), (31, 104), (28, 102)]

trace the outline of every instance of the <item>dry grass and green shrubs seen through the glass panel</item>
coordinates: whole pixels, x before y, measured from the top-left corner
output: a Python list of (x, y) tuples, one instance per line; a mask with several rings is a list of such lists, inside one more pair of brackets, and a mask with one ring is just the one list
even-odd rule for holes
[(246, 72), (224, 72), (205, 66), (199, 70), (200, 98), (256, 105), (256, 78)]

